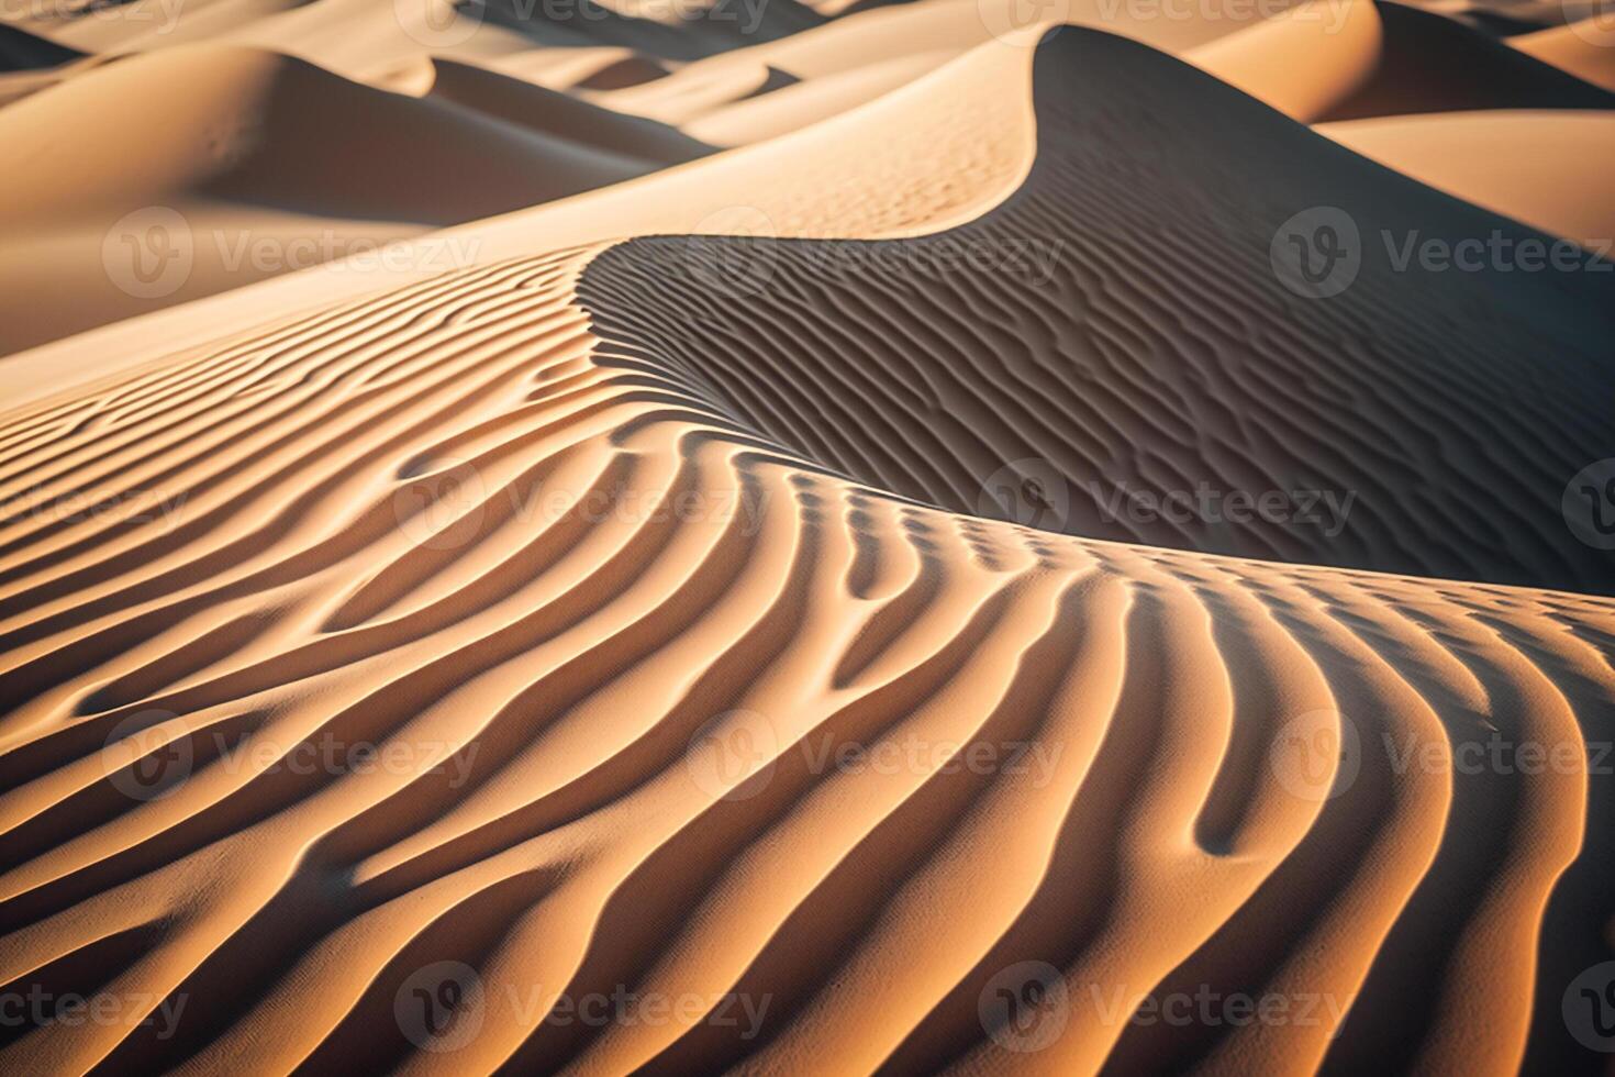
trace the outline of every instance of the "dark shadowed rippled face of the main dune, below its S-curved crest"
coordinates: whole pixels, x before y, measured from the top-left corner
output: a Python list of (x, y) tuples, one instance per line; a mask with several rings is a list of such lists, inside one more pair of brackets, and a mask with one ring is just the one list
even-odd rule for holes
[[(578, 287), (606, 362), (678, 370), (770, 444), (954, 512), (1615, 591), (1563, 505), (1615, 454), (1615, 265), (1426, 265), (1554, 241), (1077, 34), (1038, 53), (1038, 157), (1005, 205), (912, 241), (625, 242)], [(1344, 221), (1344, 291), (1318, 299), (1274, 249), (1313, 218)]]

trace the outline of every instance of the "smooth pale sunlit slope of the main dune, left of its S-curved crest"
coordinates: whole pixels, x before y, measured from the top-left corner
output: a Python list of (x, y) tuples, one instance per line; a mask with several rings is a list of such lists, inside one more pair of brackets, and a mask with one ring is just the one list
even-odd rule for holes
[[(1032, 158), (1027, 50), (987, 42), (930, 76), (848, 115), (593, 192), (430, 236), (388, 263), (341, 263), (265, 281), (179, 310), (5, 358), (18, 402), (99, 373), (162, 362), (273, 318), (378, 294), (443, 273), (443, 258), (493, 263), (523, 252), (631, 234), (751, 233), (893, 236), (980, 215), (1008, 195)], [(759, 216), (761, 213), (761, 216)], [(150, 305), (147, 307), (150, 310)]]

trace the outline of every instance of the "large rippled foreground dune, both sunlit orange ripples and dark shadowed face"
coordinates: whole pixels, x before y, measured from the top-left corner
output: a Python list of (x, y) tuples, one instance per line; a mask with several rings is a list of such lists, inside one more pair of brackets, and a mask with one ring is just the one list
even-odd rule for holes
[[(13, 410), (0, 982), (128, 1020), (6, 1027), (0, 1067), (1594, 1069), (1615, 601), (1497, 581), (1609, 589), (1541, 504), (1610, 455), (1604, 286), (1365, 258), (1298, 299), (1268, 236), (1318, 199), (1528, 233), (1121, 39), (1034, 86), (1024, 189), (950, 234), (1061, 241), (1021, 300), (945, 237), (875, 245), (904, 279), (643, 239)], [(1164, 544), (1483, 581), (990, 518), (1014, 438), (1366, 505)], [(1287, 1017), (1160, 1019), (1229, 998)]]

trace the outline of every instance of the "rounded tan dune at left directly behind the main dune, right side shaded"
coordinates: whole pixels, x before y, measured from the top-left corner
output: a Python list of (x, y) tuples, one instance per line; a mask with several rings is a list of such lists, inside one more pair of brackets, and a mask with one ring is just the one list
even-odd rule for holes
[[(378, 244), (433, 226), (661, 166), (649, 149), (646, 158), (610, 149), (602, 128), (591, 144), (535, 119), (507, 123), (447, 95), (386, 94), (287, 57), (213, 45), (108, 63), (37, 92), (0, 111), (0, 142), (29, 163), (0, 178), (11, 241), (0, 287), (19, 307), (0, 323), (0, 349), (350, 252), (375, 257)], [(331, 168), (355, 142), (354, 160)], [(126, 165), (105, 168), (108, 155)], [(464, 160), (476, 160), (476, 182), (464, 181)], [(171, 286), (165, 265), (176, 266)]]

